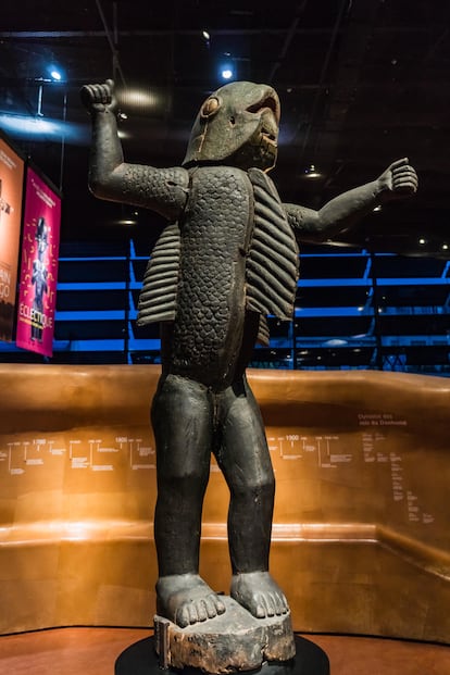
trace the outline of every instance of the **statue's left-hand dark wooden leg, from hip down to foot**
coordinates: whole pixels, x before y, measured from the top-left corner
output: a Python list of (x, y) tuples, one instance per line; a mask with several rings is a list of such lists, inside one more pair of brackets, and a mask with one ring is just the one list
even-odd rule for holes
[(207, 387), (175, 375), (163, 378), (153, 399), (152, 425), (158, 473), (157, 611), (185, 627), (225, 611), (198, 574), (213, 430)]

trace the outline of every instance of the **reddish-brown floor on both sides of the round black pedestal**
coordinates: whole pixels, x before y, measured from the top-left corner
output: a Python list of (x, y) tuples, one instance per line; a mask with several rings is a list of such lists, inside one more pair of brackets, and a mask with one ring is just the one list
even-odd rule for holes
[[(2, 636), (0, 673), (113, 675), (117, 657), (150, 635), (150, 630), (135, 628), (58, 628)], [(330, 675), (450, 675), (450, 647), (364, 637), (305, 637), (327, 653)]]

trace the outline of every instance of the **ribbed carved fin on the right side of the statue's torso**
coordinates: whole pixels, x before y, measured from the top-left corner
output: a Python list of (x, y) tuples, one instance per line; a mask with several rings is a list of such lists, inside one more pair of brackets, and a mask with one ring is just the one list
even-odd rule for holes
[(289, 321), (299, 276), (297, 241), (273, 182), (259, 168), (250, 168), (249, 178), (254, 226), (247, 260), (247, 307)]

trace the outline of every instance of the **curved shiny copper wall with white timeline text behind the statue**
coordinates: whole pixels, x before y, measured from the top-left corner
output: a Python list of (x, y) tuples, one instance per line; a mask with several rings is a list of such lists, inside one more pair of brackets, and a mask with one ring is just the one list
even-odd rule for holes
[[(151, 624), (158, 375), (0, 365), (0, 633)], [(272, 571), (295, 628), (450, 642), (450, 382), (283, 371), (250, 382), (277, 478)], [(213, 463), (201, 564), (225, 591), (226, 509)]]

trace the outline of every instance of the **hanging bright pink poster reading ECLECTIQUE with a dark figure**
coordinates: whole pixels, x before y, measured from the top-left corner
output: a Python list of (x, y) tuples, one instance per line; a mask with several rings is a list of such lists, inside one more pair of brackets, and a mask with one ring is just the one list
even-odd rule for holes
[(53, 353), (61, 199), (33, 168), (25, 187), (17, 347)]

